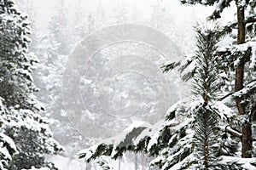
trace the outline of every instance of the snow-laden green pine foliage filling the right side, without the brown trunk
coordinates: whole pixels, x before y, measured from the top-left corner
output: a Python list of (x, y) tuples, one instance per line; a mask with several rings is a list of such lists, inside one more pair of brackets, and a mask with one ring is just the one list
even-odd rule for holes
[[(242, 43), (239, 45), (221, 48), (217, 46), (220, 37), (233, 36), (234, 31), (239, 29), (238, 21), (214, 29), (196, 29), (196, 53), (162, 67), (163, 71), (176, 69), (183, 81), (192, 79), (194, 101), (186, 103), (181, 100), (173, 105), (167, 111), (166, 120), (161, 126), (146, 127), (141, 133), (133, 136), (133, 142), (128, 146), (116, 147), (119, 138), (124, 136), (122, 134), (112, 141), (82, 150), (79, 153), (80, 158), (86, 161), (101, 155), (116, 158), (115, 153), (122, 156), (123, 152), (131, 150), (156, 156), (151, 165), (165, 170), (256, 169), (254, 158), (241, 158), (240, 140), (243, 135), (241, 129), (244, 129), (241, 125), (251, 122), (256, 108), (256, 3), (254, 0), (181, 0), (181, 3), (215, 6), (212, 15), (208, 17), (209, 20), (218, 20), (225, 8), (229, 8), (231, 3), (236, 3), (238, 12), (246, 11), (242, 24), (246, 26), (247, 40), (245, 43), (239, 42)], [(235, 80), (235, 71), (243, 64), (244, 86), (234, 93), (232, 81)], [(237, 98), (241, 99), (245, 108), (243, 116), (237, 116), (236, 111), (233, 111), (234, 99)], [(130, 133), (132, 132), (128, 132), (126, 137), (131, 136)]]

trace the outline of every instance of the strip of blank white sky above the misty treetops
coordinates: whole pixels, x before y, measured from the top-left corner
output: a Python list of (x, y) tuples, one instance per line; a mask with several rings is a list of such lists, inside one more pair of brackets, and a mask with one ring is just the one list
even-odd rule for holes
[[(206, 17), (212, 13), (213, 8), (206, 8), (201, 5), (185, 6), (181, 5), (178, 0), (64, 0), (65, 7), (73, 6), (74, 2), (81, 2), (84, 12), (104, 10), (106, 14), (108, 11), (116, 7), (118, 2), (124, 1), (130, 8), (136, 6), (143, 17), (147, 18), (150, 15), (150, 8), (153, 4), (160, 3), (162, 7), (165, 7), (171, 14), (183, 21), (185, 17), (189, 17), (190, 14), (194, 14), (198, 20), (205, 20)], [(32, 6), (37, 11), (38, 26), (46, 30), (49, 18), (55, 12), (57, 5), (60, 5), (61, 0), (33, 0)], [(99, 5), (101, 4), (101, 5)], [(234, 11), (234, 10), (232, 10)], [(232, 14), (228, 11), (224, 11), (227, 15), (224, 20), (233, 20)], [(184, 23), (185, 24), (185, 23)]]

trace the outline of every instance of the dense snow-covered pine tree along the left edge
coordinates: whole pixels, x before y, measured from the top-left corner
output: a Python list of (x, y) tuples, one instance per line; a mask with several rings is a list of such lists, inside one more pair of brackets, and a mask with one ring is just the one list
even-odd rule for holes
[[(1, 148), (9, 152), (9, 161), (2, 157), (3, 167), (22, 168), (50, 167), (45, 154), (62, 150), (53, 138), (48, 120), (38, 114), (43, 108), (34, 96), (32, 71), (37, 59), (28, 53), (30, 26), (27, 16), (16, 8), (14, 1), (0, 1), (0, 97), (1, 133), (4, 139), (12, 139), (17, 152), (9, 143), (1, 140)], [(4, 108), (4, 109), (3, 109)], [(2, 137), (4, 136), (2, 135)], [(10, 161), (11, 160), (11, 161)]]

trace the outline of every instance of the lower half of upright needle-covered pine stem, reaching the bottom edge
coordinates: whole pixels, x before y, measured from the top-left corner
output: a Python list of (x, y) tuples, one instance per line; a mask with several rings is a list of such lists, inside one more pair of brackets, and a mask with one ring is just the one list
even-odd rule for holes
[(200, 105), (195, 114), (195, 156), (203, 169), (216, 169), (220, 146), (218, 115), (209, 105)]

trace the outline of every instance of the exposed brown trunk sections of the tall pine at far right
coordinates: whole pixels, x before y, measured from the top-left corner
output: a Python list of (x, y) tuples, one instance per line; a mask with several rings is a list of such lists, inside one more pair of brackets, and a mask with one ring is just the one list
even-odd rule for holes
[[(246, 24), (244, 22), (244, 8), (237, 7), (237, 44), (245, 42), (246, 38)], [(244, 78), (244, 65), (245, 62), (241, 62), (236, 68), (236, 81), (235, 81), (235, 91), (241, 90), (243, 88), (243, 78)], [(236, 107), (239, 115), (244, 115), (245, 110), (241, 105), (241, 98), (236, 99)], [(252, 128), (250, 122), (245, 122), (242, 125), (242, 137), (241, 137), (241, 157), (252, 157), (251, 150), (253, 149), (253, 137), (252, 137)]]

